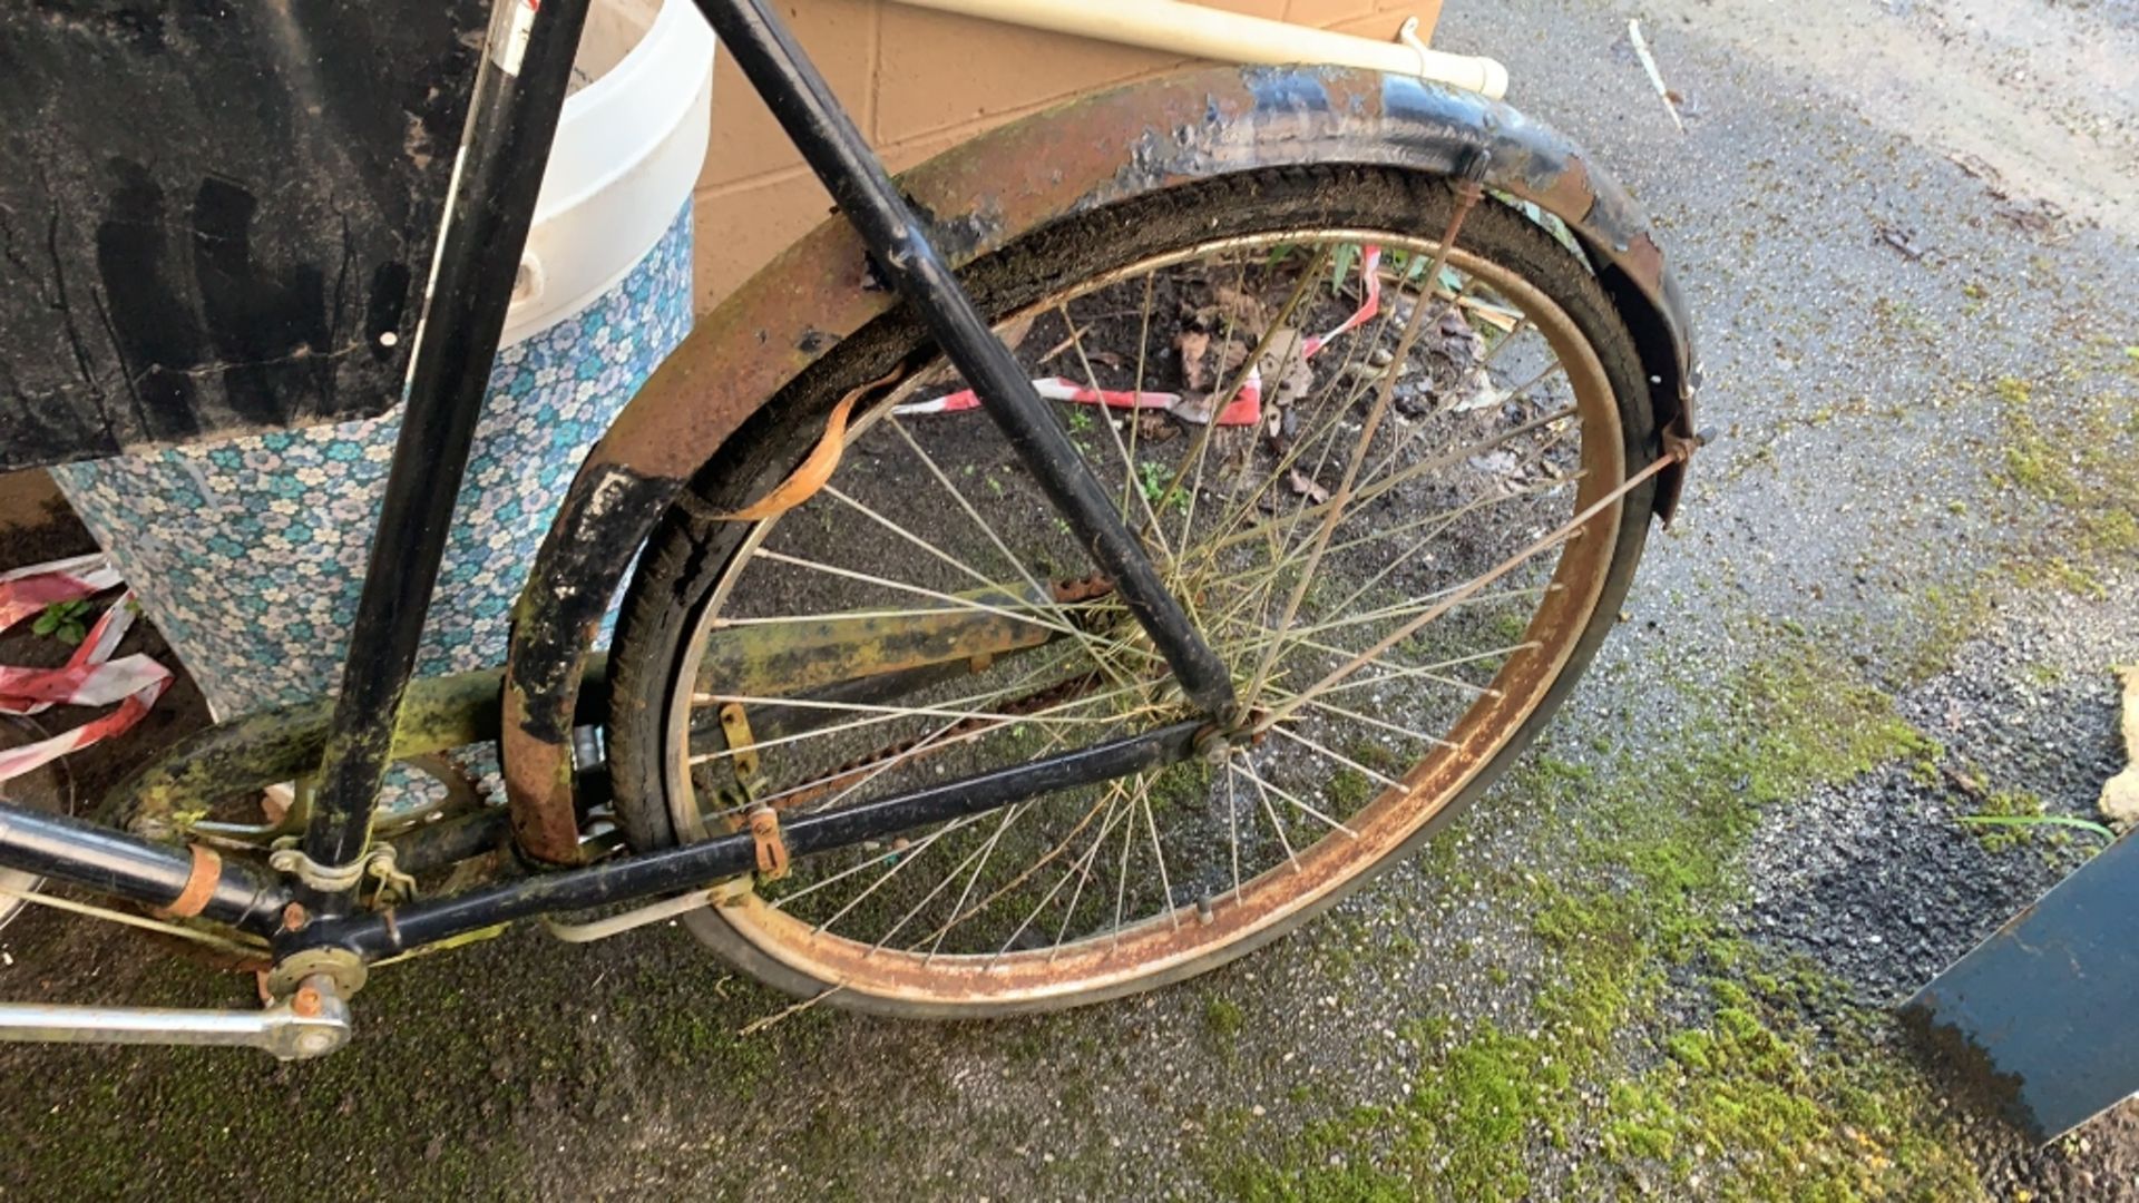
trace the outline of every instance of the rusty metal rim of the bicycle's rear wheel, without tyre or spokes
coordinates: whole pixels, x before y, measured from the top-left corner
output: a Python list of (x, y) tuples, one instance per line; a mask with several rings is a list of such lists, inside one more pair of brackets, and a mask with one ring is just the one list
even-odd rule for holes
[[(1307, 233), (1320, 240), (1380, 242), (1405, 246), (1414, 255), (1431, 255), (1431, 240), (1403, 238), (1367, 229), (1313, 229)], [(1215, 248), (1256, 246), (1292, 233), (1260, 233), (1200, 242), (1168, 255), (1138, 259), (1114, 272), (1080, 280), (1074, 293), (1093, 293), (1110, 283), (1149, 274), (1172, 263), (1183, 263)], [(1574, 486), (1572, 509), (1585, 509), (1606, 499), (1626, 477), (1626, 447), (1613, 387), (1596, 349), (1583, 336), (1568, 313), (1542, 289), (1521, 274), (1472, 255), (1463, 248), (1448, 253), (1448, 263), (1459, 272), (1487, 280), (1502, 298), (1512, 300), (1551, 345), (1568, 375), (1574, 394), (1574, 409), (1581, 422), (1581, 475)], [(1022, 315), (1046, 310), (1059, 298), (1046, 298), (1025, 306), (1020, 315), (1007, 319), (1016, 323)], [(892, 402), (898, 398), (894, 396)], [(879, 407), (873, 413), (883, 413)], [(849, 435), (860, 439), (868, 430), (866, 420)], [(1570, 512), (1572, 512), (1570, 509)], [(1209, 899), (1183, 901), (1164, 914), (1151, 914), (1134, 925), (1125, 925), (1102, 935), (1089, 935), (1046, 950), (1007, 950), (995, 955), (945, 955), (939, 950), (909, 950), (875, 946), (843, 935), (819, 931), (755, 893), (744, 893), (721, 908), (719, 920), (751, 944), (759, 955), (779, 965), (826, 985), (843, 985), (879, 1000), (894, 1000), (915, 1006), (1003, 1006), (1037, 1008), (1070, 998), (1095, 998), (1136, 989), (1140, 983), (1164, 978), (1187, 965), (1209, 961), (1213, 953), (1234, 946), (1251, 946), (1268, 931), (1288, 927), (1301, 914), (1320, 910), (1345, 886), (1395, 856), (1420, 828), (1440, 816), (1452, 798), (1463, 794), (1484, 766), (1517, 738), (1532, 715), (1540, 711), (1553, 683), (1566, 672), (1583, 634), (1591, 627), (1598, 599), (1604, 595), (1606, 576), (1613, 565), (1621, 503), (1604, 505), (1585, 531), (1594, 535), (1570, 539), (1559, 548), (1553, 582), (1544, 602), (1532, 612), (1523, 629), (1523, 642), (1536, 649), (1512, 657), (1491, 679), (1491, 694), (1480, 698), (1448, 730), (1442, 747), (1414, 764), (1399, 786), (1382, 790), (1373, 801), (1348, 816), (1345, 826), (1352, 837), (1328, 837), (1298, 850), (1294, 858), (1271, 865), (1251, 880), (1209, 905)], [(719, 612), (727, 584), (734, 580), (734, 565), (749, 561), (749, 554), (764, 539), (764, 531), (753, 531), (744, 548), (734, 557), (723, 587), (714, 589), (702, 614), (695, 619), (687, 642), (684, 664), (697, 664), (710, 634), (708, 619)], [(682, 689), (672, 698), (670, 730), (689, 726), (689, 706)], [(676, 762), (672, 777), (682, 788), (672, 788), (672, 818), (682, 839), (704, 837), (702, 807), (689, 788), (689, 745), (672, 738)], [(1200, 905), (1202, 903), (1202, 905)]]

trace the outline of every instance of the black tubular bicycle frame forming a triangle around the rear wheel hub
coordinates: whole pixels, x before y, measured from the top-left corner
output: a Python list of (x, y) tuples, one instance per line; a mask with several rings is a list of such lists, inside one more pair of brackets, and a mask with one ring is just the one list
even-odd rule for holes
[[(1191, 756), (1198, 745), (1209, 749), (1211, 738), (1236, 719), (1224, 661), (1168, 595), (1061, 424), (973, 310), (830, 86), (764, 0), (697, 0), (697, 6), (838, 199), (873, 263), (928, 323), (952, 364), (973, 381), (988, 415), (1046, 486), (1063, 520), (1091, 548), (1183, 691), (1209, 715), (1209, 721), (1174, 724), (1022, 768), (798, 822), (787, 831), (789, 848), (838, 848), (1022, 796), (1155, 768)], [(492, 28), (492, 51), (486, 54), (468, 118), (466, 165), (449, 199), (385, 507), (372, 539), (340, 698), (325, 734), (319, 794), (302, 846), (282, 856), (295, 884), (284, 886), (244, 867), (222, 865), (207, 850), (188, 858), (130, 835), (13, 807), (0, 811), (0, 861), (173, 914), (199, 914), (272, 935), (284, 959), (312, 948), (394, 955), (509, 918), (644, 899), (753, 865), (753, 837), (736, 835), (543, 873), (445, 903), (402, 908), (391, 916), (355, 914), (370, 848), (372, 801), (394, 758), (394, 734), (428, 599), (445, 554), (445, 533), (586, 9), (588, 0), (548, 0), (533, 17), (524, 51), (511, 49), (511, 28)], [(509, 4), (501, 13), (509, 21), (522, 9)]]

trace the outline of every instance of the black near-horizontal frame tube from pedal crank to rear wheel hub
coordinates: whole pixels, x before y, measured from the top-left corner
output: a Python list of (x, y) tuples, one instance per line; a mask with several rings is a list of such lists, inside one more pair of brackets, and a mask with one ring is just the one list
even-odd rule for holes
[[(1001, 809), (1037, 794), (1179, 764), (1196, 753), (1196, 736), (1204, 730), (1209, 724), (1202, 721), (1172, 724), (1016, 768), (999, 768), (860, 807), (804, 816), (783, 824), (781, 835), (789, 856), (830, 852), (864, 839)], [(747, 873), (753, 865), (757, 865), (757, 841), (751, 835), (723, 835), (588, 869), (537, 873), (434, 903), (406, 905), (391, 914), (314, 920), (293, 940), (293, 946), (347, 948), (370, 961), (535, 914), (629, 903), (699, 888), (721, 878)]]

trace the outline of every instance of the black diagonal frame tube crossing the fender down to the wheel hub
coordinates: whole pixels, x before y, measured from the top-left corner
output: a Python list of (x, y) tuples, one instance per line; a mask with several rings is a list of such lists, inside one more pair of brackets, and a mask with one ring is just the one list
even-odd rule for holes
[(1106, 488), (1018, 370), (1010, 349), (973, 310), (950, 265), (928, 244), (922, 223), (898, 195), (883, 163), (868, 150), (838, 96), (794, 41), (766, 0), (697, 0), (721, 51), (751, 79), (772, 116), (787, 131), (817, 180), (853, 223), (877, 268), (896, 285), (913, 313), (928, 323), (937, 345), (965, 372), (988, 417), (1010, 439), (1025, 467), (1040, 477), (1048, 501), (1112, 578), (1114, 591), (1151, 634), (1181, 689), (1204, 713), (1232, 721), (1234, 694), (1226, 661), (1211, 651), (1196, 625), (1151, 567), (1151, 557), (1117, 514)]

